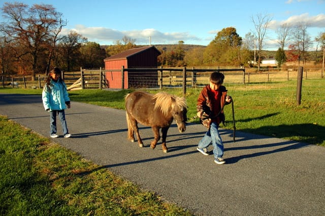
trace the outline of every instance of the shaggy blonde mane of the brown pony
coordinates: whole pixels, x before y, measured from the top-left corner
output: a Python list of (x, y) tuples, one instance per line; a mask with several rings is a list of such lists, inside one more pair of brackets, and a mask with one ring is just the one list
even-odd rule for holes
[(159, 109), (165, 116), (168, 115), (170, 107), (177, 105), (181, 110), (184, 110), (187, 107), (186, 99), (184, 97), (176, 97), (166, 92), (159, 92), (153, 95), (153, 99), (156, 100), (154, 110)]

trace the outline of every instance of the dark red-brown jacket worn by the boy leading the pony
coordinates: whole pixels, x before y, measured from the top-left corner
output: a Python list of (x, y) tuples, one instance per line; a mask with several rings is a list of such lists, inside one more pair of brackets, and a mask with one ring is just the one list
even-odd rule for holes
[[(224, 105), (229, 104), (229, 102), (225, 101), (225, 97), (227, 95), (228, 90), (226, 90), (224, 86), (220, 86), (218, 91), (221, 93), (220, 106), (217, 104), (213, 104), (213, 102), (215, 102), (215, 99), (214, 93), (212, 92), (210, 85), (205, 86), (202, 89), (198, 98), (197, 111), (205, 113), (211, 118), (212, 122), (216, 122), (219, 125), (220, 122), (224, 124), (223, 107)], [(213, 116), (213, 113), (219, 115)]]

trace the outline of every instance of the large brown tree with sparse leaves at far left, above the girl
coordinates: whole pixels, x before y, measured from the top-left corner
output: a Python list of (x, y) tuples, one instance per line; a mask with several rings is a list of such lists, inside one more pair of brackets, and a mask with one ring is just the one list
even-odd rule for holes
[[(41, 68), (44, 71), (49, 67), (57, 35), (65, 25), (61, 20), (62, 14), (51, 5), (28, 7), (17, 2), (5, 3), (2, 12), (5, 22), (1, 23), (0, 31), (16, 44), (18, 59), (28, 56), (25, 59), (30, 59), (31, 74), (35, 78)], [(48, 60), (43, 60), (46, 66), (42, 66), (39, 60), (44, 56), (48, 56)]]

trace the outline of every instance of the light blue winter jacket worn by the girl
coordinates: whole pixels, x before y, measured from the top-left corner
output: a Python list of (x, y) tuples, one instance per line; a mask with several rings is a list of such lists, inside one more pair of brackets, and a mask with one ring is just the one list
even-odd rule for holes
[(49, 111), (65, 110), (66, 103), (70, 103), (70, 98), (66, 84), (64, 82), (51, 80), (51, 86), (44, 85), (42, 92), (44, 109)]

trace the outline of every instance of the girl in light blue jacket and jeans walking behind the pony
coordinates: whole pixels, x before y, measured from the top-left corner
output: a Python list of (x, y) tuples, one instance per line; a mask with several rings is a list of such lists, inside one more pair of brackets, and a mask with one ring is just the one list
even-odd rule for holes
[(42, 92), (43, 105), (46, 111), (50, 112), (50, 136), (58, 137), (56, 134), (56, 115), (61, 121), (63, 136), (69, 138), (71, 134), (68, 132), (66, 115), (64, 110), (70, 109), (70, 98), (67, 86), (60, 78), (61, 70), (54, 67), (45, 81)]

